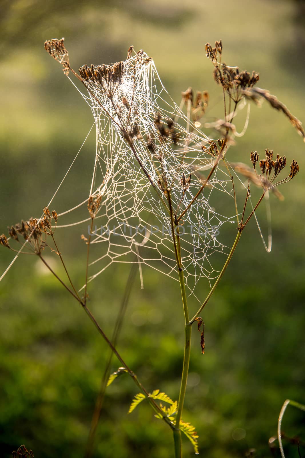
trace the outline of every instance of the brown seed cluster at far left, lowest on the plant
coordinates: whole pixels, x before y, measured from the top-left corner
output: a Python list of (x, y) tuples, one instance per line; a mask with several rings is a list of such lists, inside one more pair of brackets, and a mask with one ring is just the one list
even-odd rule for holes
[[(44, 207), (43, 213), (44, 216), (40, 220), (37, 218), (30, 218), (28, 221), (22, 220), (21, 223), (8, 227), (8, 233), (11, 239), (16, 240), (22, 245), (19, 237), (23, 237), (23, 239), (27, 240), (28, 246), (38, 255), (47, 246), (45, 237), (54, 234), (58, 218), (55, 210), (52, 211), (51, 215), (48, 207)], [(52, 228), (52, 219), (55, 221), (55, 228)], [(11, 248), (5, 234), (0, 236), (0, 245)]]

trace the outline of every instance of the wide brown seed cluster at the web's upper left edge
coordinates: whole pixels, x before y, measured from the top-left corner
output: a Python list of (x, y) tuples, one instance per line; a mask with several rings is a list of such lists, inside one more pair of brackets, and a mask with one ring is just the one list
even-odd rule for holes
[(93, 64), (91, 67), (83, 65), (80, 67), (80, 76), (84, 81), (91, 80), (94, 83), (103, 85), (103, 81), (112, 83), (120, 83), (123, 75), (124, 64), (122, 61), (113, 64), (112, 66), (98, 65), (95, 67)]

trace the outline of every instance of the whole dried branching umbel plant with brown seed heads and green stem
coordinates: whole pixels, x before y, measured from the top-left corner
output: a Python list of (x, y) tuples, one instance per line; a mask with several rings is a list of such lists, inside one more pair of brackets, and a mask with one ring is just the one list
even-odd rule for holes
[[(116, 357), (122, 364), (122, 368), (120, 368), (119, 371), (116, 371), (113, 374), (112, 380), (116, 378), (120, 373), (123, 373), (124, 371), (128, 372), (128, 374), (132, 376), (134, 382), (136, 383), (136, 385), (139, 387), (141, 391), (141, 393), (137, 395), (138, 398), (137, 397), (135, 398), (132, 405), (134, 405), (135, 407), (137, 403), (139, 403), (143, 398), (148, 399), (151, 407), (154, 409), (155, 413), (157, 414), (156, 415), (157, 418), (162, 418), (173, 431), (175, 457), (176, 458), (182, 457), (181, 431), (183, 431), (187, 435), (187, 437), (191, 440), (191, 442), (193, 443), (195, 452), (197, 453), (198, 452), (197, 433), (192, 425), (186, 424), (182, 420), (184, 398), (185, 398), (186, 387), (187, 387), (187, 374), (188, 374), (189, 361), (190, 361), (192, 324), (194, 322), (197, 322), (198, 329), (200, 329), (200, 327), (203, 326), (203, 331), (201, 332), (200, 344), (201, 344), (202, 353), (204, 353), (204, 323), (203, 323), (202, 317), (199, 315), (202, 312), (205, 305), (209, 302), (212, 294), (214, 293), (214, 290), (217, 288), (222, 276), (224, 275), (225, 270), (228, 267), (230, 260), (234, 254), (238, 241), (240, 240), (243, 230), (245, 229), (246, 225), (248, 224), (248, 222), (254, 215), (257, 207), (262, 202), (262, 199), (266, 195), (266, 193), (268, 193), (269, 191), (274, 191), (274, 188), (276, 188), (278, 185), (283, 185), (284, 183), (292, 180), (294, 176), (299, 172), (299, 166), (293, 160), (290, 165), (290, 172), (288, 176), (286, 176), (283, 179), (280, 179), (280, 174), (283, 175), (283, 170), (286, 166), (286, 162), (287, 162), (286, 157), (280, 156), (278, 154), (276, 158), (274, 159), (273, 151), (268, 150), (268, 149), (265, 150), (265, 157), (261, 160), (259, 160), (259, 154), (256, 151), (251, 152), (250, 159), (251, 159), (252, 168), (253, 168), (252, 170), (245, 164), (238, 163), (236, 165), (236, 164), (230, 164), (227, 161), (228, 149), (230, 147), (230, 143), (232, 141), (232, 138), (234, 137), (234, 132), (235, 132), (235, 126), (232, 124), (232, 122), (236, 115), (236, 107), (238, 106), (238, 104), (241, 103), (241, 101), (244, 98), (251, 98), (256, 103), (259, 98), (265, 98), (266, 100), (269, 101), (269, 103), (271, 104), (271, 106), (273, 106), (273, 108), (280, 109), (281, 111), (284, 112), (286, 116), (289, 117), (289, 120), (294, 124), (294, 126), (297, 128), (297, 130), (299, 131), (299, 133), (302, 136), (304, 136), (303, 135), (304, 131), (302, 131), (300, 121), (297, 120), (289, 112), (289, 110), (284, 106), (284, 104), (281, 104), (281, 102), (279, 102), (278, 99), (276, 99), (274, 96), (270, 96), (268, 91), (265, 91), (259, 88), (255, 90), (254, 86), (259, 81), (259, 75), (255, 71), (253, 71), (250, 74), (247, 71), (240, 71), (238, 67), (229, 67), (221, 62), (222, 52), (223, 52), (223, 46), (222, 46), (221, 40), (215, 42), (214, 48), (209, 43), (206, 44), (206, 47), (205, 47), (206, 55), (211, 60), (212, 64), (214, 65), (214, 71), (213, 71), (214, 80), (223, 89), (225, 120), (221, 121), (219, 123), (219, 126), (221, 125), (221, 128), (224, 130), (224, 135), (222, 138), (218, 140), (217, 143), (214, 141), (210, 141), (208, 146), (202, 147), (206, 153), (213, 156), (214, 165), (210, 169), (207, 178), (203, 181), (202, 186), (198, 189), (197, 193), (195, 194), (191, 202), (189, 202), (185, 206), (184, 210), (181, 211), (180, 207), (182, 205), (182, 202), (185, 199), (186, 191), (191, 184), (192, 175), (191, 174), (186, 175), (184, 172), (182, 173), (180, 177), (180, 182), (179, 182), (179, 184), (181, 185), (182, 197), (181, 197), (181, 201), (179, 202), (179, 204), (176, 205), (176, 207), (174, 207), (173, 201), (171, 198), (171, 185), (172, 184), (168, 183), (166, 171), (164, 171), (159, 176), (157, 183), (155, 183), (152, 180), (148, 171), (145, 169), (144, 164), (142, 163), (139, 157), (139, 154), (137, 153), (134, 139), (139, 138), (140, 133), (139, 133), (138, 126), (136, 124), (130, 125), (130, 113), (131, 113), (134, 98), (132, 97), (131, 105), (128, 104), (126, 99), (125, 99), (125, 102), (123, 100), (123, 105), (125, 106), (127, 110), (129, 110), (128, 121), (126, 125), (123, 124), (122, 118), (120, 116), (120, 112), (118, 108), (114, 105), (112, 97), (116, 91), (116, 88), (121, 83), (121, 78), (122, 78), (123, 71), (124, 71), (123, 62), (118, 62), (112, 66), (99, 65), (98, 67), (94, 67), (93, 65), (91, 65), (91, 67), (88, 67), (87, 65), (84, 65), (83, 67), (80, 68), (79, 74), (78, 74), (70, 66), (69, 55), (68, 55), (67, 50), (65, 49), (63, 38), (61, 40), (52, 39), (52, 40), (46, 41), (45, 49), (55, 60), (57, 60), (61, 65), (63, 65), (63, 70), (64, 70), (65, 75), (68, 75), (69, 72), (71, 71), (72, 74), (76, 76), (78, 80), (82, 82), (82, 84), (84, 84), (84, 86), (89, 91), (89, 93), (91, 93), (92, 97), (95, 98), (97, 104), (99, 104), (99, 106), (111, 118), (112, 122), (114, 122), (118, 126), (119, 130), (122, 133), (123, 138), (128, 143), (128, 146), (130, 147), (134, 155), (134, 158), (137, 160), (140, 169), (142, 169), (143, 174), (146, 176), (147, 180), (150, 182), (150, 185), (152, 186), (152, 188), (155, 191), (155, 195), (160, 200), (161, 205), (163, 205), (163, 207), (166, 210), (166, 214), (168, 215), (169, 223), (171, 227), (171, 238), (172, 238), (172, 243), (174, 246), (174, 253), (175, 253), (175, 258), (176, 258), (176, 263), (177, 263), (177, 276), (179, 278), (180, 288), (181, 288), (182, 307), (183, 307), (183, 312), (184, 312), (184, 334), (185, 334), (184, 356), (183, 356), (182, 377), (181, 377), (181, 385), (180, 385), (178, 401), (175, 401), (175, 402), (171, 401), (171, 399), (168, 398), (164, 393), (159, 393), (159, 390), (155, 390), (155, 392), (150, 394), (141, 385), (137, 376), (134, 374), (134, 372), (131, 369), (128, 368), (128, 365), (122, 359), (121, 355), (116, 350), (114, 344), (107, 338), (102, 328), (97, 323), (95, 317), (92, 315), (92, 313), (87, 308), (87, 305), (86, 305), (86, 301), (88, 297), (87, 282), (88, 282), (88, 266), (89, 266), (89, 255), (90, 255), (90, 246), (91, 246), (91, 235), (89, 235), (89, 238), (82, 236), (82, 238), (85, 240), (86, 245), (87, 245), (85, 291), (84, 291), (84, 295), (82, 298), (79, 296), (77, 290), (75, 289), (71, 281), (69, 273), (64, 264), (62, 255), (54, 239), (54, 232), (55, 232), (57, 220), (58, 220), (58, 216), (55, 211), (50, 213), (47, 207), (44, 208), (44, 215), (41, 219), (30, 218), (29, 221), (22, 221), (21, 224), (16, 224), (15, 226), (11, 226), (9, 228), (9, 236), (11, 237), (11, 240), (15, 240), (17, 243), (20, 243), (21, 245), (24, 244), (24, 241), (22, 240), (24, 239), (26, 241), (26, 247), (29, 249), (27, 253), (32, 254), (32, 255), (33, 254), (37, 255), (41, 259), (41, 261), (46, 265), (46, 267), (48, 267), (50, 272), (52, 272), (54, 276), (59, 280), (59, 282), (64, 286), (64, 288), (67, 289), (70, 292), (70, 294), (75, 298), (75, 300), (77, 300), (80, 303), (80, 305), (84, 308), (84, 310), (90, 317), (91, 321), (97, 328), (98, 332), (102, 335), (102, 337), (107, 342), (110, 349), (112, 350), (113, 354), (116, 355)], [(128, 49), (128, 56), (131, 55), (132, 51), (133, 49), (132, 47), (130, 47)], [(114, 119), (111, 116), (111, 114), (107, 111), (107, 109), (102, 105), (101, 101), (96, 97), (94, 93), (92, 93), (90, 87), (87, 84), (88, 81), (98, 83), (105, 90), (105, 92), (107, 93), (107, 97), (109, 98), (109, 100), (112, 103), (114, 112), (116, 114), (116, 119)], [(186, 105), (187, 107), (188, 129), (193, 129), (193, 123), (195, 123), (195, 127), (198, 127), (198, 125), (200, 125), (199, 120), (201, 120), (204, 117), (205, 110), (208, 106), (208, 103), (209, 103), (209, 94), (206, 91), (203, 91), (202, 93), (197, 93), (196, 97), (193, 96), (192, 88), (188, 88), (187, 91), (182, 93), (181, 107), (183, 105)], [(231, 112), (231, 103), (234, 104), (234, 108), (232, 112)], [(173, 144), (176, 145), (179, 134), (174, 129), (173, 120), (168, 118), (164, 122), (163, 120), (161, 120), (161, 115), (156, 114), (155, 130), (156, 130), (156, 136), (158, 137), (161, 144), (162, 142), (172, 142)], [(230, 132), (230, 135), (229, 135), (229, 132)], [(147, 147), (148, 154), (155, 153), (154, 141), (151, 138), (151, 136), (148, 134), (147, 134), (146, 147)], [(156, 158), (156, 160), (159, 161), (160, 164), (162, 164), (162, 157), (160, 155)], [(237, 233), (236, 233), (235, 241), (225, 261), (225, 264), (221, 272), (219, 273), (218, 278), (215, 280), (214, 285), (212, 286), (212, 289), (210, 290), (206, 299), (203, 301), (202, 305), (198, 308), (198, 311), (194, 314), (193, 317), (190, 318), (188, 306), (187, 306), (187, 294), (186, 294), (185, 279), (184, 279), (184, 267), (182, 263), (182, 254), (181, 254), (181, 243), (182, 242), (180, 239), (180, 229), (179, 228), (184, 223), (183, 218), (187, 216), (187, 212), (190, 211), (194, 202), (196, 202), (196, 200), (200, 198), (200, 196), (202, 195), (204, 187), (209, 185), (209, 181), (213, 177), (214, 171), (218, 167), (220, 161), (223, 162), (223, 164), (225, 165), (225, 167), (228, 170), (233, 169), (233, 168), (235, 168), (236, 170), (236, 167), (238, 167), (239, 171), (241, 171), (241, 173), (247, 176), (248, 187), (246, 189), (246, 196), (245, 196), (245, 202), (243, 205), (243, 210), (241, 212), (241, 219), (239, 219), (240, 213), (238, 212), (238, 206), (236, 202), (234, 180), (233, 180), (233, 176), (231, 177), (233, 191), (234, 191), (235, 212), (236, 212), (236, 220), (237, 220), (237, 228), (236, 228)], [(183, 162), (182, 162), (182, 165), (183, 165)], [(259, 173), (257, 173), (258, 168), (260, 169)], [(258, 199), (257, 204), (253, 207), (252, 211), (249, 213), (249, 215), (246, 218), (247, 202), (250, 196), (250, 183), (251, 185), (255, 184), (256, 186), (260, 186), (262, 188), (262, 195)], [(91, 218), (90, 234), (92, 232), (93, 223), (96, 218), (96, 214), (99, 212), (99, 207), (101, 205), (101, 202), (102, 202), (102, 193), (91, 195), (88, 199), (88, 211), (89, 211), (89, 215)], [(245, 222), (244, 222), (244, 219), (246, 219)], [(50, 248), (50, 246), (47, 243), (47, 240), (50, 237), (53, 240), (54, 246), (56, 248), (56, 251), (54, 250), (53, 251), (56, 253), (56, 255), (59, 256), (72, 289), (70, 289), (70, 287), (66, 285), (61, 278), (59, 278), (59, 276), (51, 269), (51, 267), (48, 265), (48, 262), (42, 256), (43, 250), (45, 250), (46, 248)], [(0, 236), (0, 245), (3, 245), (4, 247), (13, 250), (13, 248), (11, 248), (10, 239), (8, 239), (4, 234)], [(26, 251), (23, 251), (23, 252), (26, 252)], [(166, 409), (162, 405), (159, 405), (156, 402), (156, 400), (163, 400), (171, 404), (171, 406), (169, 409)], [(93, 436), (94, 436), (94, 431), (93, 431)], [(88, 452), (87, 456), (90, 456), (90, 453)]]

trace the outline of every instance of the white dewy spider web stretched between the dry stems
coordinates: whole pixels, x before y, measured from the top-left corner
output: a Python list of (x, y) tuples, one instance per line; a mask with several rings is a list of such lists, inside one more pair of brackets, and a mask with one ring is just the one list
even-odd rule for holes
[[(114, 68), (104, 67), (108, 72)], [(166, 197), (158, 180), (161, 176), (166, 180), (173, 209), (179, 208), (177, 214), (182, 213), (203, 184), (199, 174), (208, 174), (216, 160), (205, 148), (209, 147), (209, 138), (197, 131), (174, 104), (153, 60), (143, 51), (122, 62), (119, 78), (100, 82), (89, 79), (86, 85), (89, 95), (82, 96), (91, 106), (97, 142), (91, 194), (102, 198), (91, 239), (91, 244), (95, 248), (100, 245), (102, 252), (91, 262), (96, 273), (89, 280), (112, 262), (138, 262), (177, 279), (170, 218), (161, 202), (166, 202)], [(121, 126), (132, 137), (138, 159)], [(162, 135), (166, 130), (167, 134)], [(192, 174), (191, 185), (184, 194), (183, 173), (187, 178)], [(231, 176), (217, 165), (209, 185), (180, 221), (182, 264), (191, 292), (199, 278), (210, 281), (218, 276), (212, 258), (215, 252), (226, 251), (217, 239), (219, 230), (225, 222), (234, 223), (236, 216), (217, 213), (211, 199), (216, 194), (217, 204), (224, 195), (232, 197), (232, 193)], [(230, 209), (233, 211), (234, 204)]]

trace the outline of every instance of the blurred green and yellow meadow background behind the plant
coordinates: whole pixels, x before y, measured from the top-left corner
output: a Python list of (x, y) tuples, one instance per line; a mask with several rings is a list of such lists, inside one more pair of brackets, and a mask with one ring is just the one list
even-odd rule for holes
[[(85, 63), (125, 59), (130, 44), (144, 49), (177, 103), (188, 86), (209, 90), (209, 120), (223, 114), (204, 44), (221, 38), (228, 65), (259, 72), (258, 86), (305, 120), (302, 1), (2, 0), (0, 6), (0, 233), (41, 214), (93, 122), (90, 109), (43, 49), (45, 39), (64, 36), (76, 70)], [(241, 114), (239, 130), (243, 122)], [(251, 107), (248, 131), (237, 140), (230, 160), (249, 163), (252, 150), (262, 154), (268, 147), (285, 154), (288, 163), (296, 159), (300, 173), (281, 188), (284, 202), (271, 196), (270, 254), (255, 223), (247, 227), (204, 310), (204, 355), (193, 331), (183, 416), (196, 426), (200, 456), (209, 458), (243, 457), (252, 447), (257, 457), (272, 456), (268, 439), (276, 434), (284, 400), (305, 402), (305, 145), (284, 115), (266, 103)], [(56, 210), (86, 198), (94, 154), (93, 133)], [(259, 218), (266, 234), (263, 208)], [(63, 234), (60, 246), (75, 283), (82, 285), (85, 250), (79, 236), (72, 230)], [(1, 273), (11, 259), (2, 249)], [(20, 256), (0, 283), (0, 455), (11, 456), (24, 443), (36, 458), (83, 457), (108, 349), (80, 306), (37, 262)], [(91, 310), (108, 335), (127, 278), (128, 267), (112, 265), (90, 284)], [(203, 281), (202, 298), (207, 291)], [(183, 353), (180, 303), (176, 282), (144, 269), (144, 290), (137, 278), (118, 343), (144, 386), (174, 399)], [(190, 300), (191, 311), (196, 307)], [(113, 361), (113, 370), (119, 365)], [(171, 432), (148, 405), (127, 415), (136, 393), (127, 376), (107, 390), (94, 457), (173, 456)], [(285, 433), (305, 441), (304, 425), (304, 413), (288, 408)], [(286, 442), (285, 447), (286, 456), (298, 456), (296, 446)], [(193, 455), (187, 440), (184, 449), (186, 457)]]

